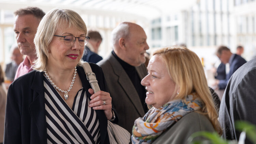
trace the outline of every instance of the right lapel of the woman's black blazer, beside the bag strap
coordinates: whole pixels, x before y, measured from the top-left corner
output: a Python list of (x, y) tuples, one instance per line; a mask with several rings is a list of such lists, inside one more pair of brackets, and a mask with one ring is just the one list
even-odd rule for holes
[[(85, 88), (86, 96), (88, 96), (88, 98), (90, 99), (91, 94), (88, 92), (88, 89), (91, 88), (91, 86), (89, 84), (89, 81), (86, 79), (85, 71), (84, 71), (83, 67), (80, 67), (80, 66), (77, 67), (77, 73), (79, 74), (83, 88)], [(97, 72), (94, 72), (94, 73), (97, 73)], [(98, 80), (98, 81), (100, 81), (100, 80)], [(99, 120), (99, 125), (100, 125), (100, 139), (101, 139), (100, 141), (101, 141), (101, 144), (104, 144), (106, 132), (107, 132), (108, 121), (106, 119), (106, 116), (105, 116), (105, 113), (103, 112), (103, 110), (96, 110), (96, 114), (97, 114), (97, 117)]]

